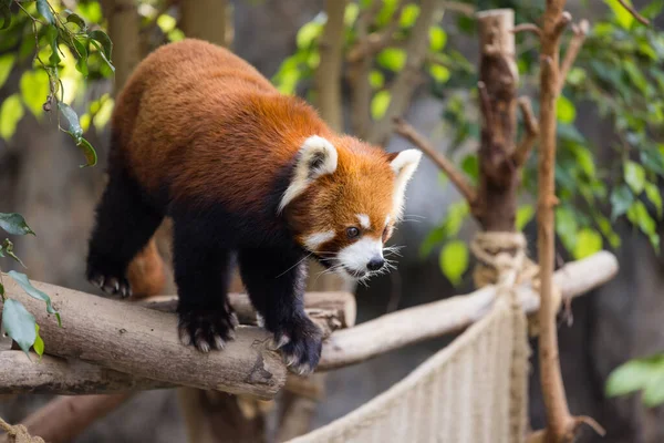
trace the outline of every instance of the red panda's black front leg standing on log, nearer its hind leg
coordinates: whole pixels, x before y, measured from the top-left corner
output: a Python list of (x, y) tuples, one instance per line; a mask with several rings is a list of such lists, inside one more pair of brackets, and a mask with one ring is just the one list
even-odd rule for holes
[(238, 319), (228, 302), (232, 251), (195, 224), (175, 220), (174, 270), (177, 284), (179, 337), (199, 351), (222, 349), (234, 338)]

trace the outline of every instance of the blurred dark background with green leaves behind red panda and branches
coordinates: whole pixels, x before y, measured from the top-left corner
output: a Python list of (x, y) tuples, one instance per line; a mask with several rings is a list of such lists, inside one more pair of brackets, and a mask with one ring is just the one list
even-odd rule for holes
[[(319, 64), (325, 48), (321, 40), (328, 18), (322, 0), (51, 1), (59, 11), (69, 9), (92, 27), (107, 30), (114, 42), (112, 62), (118, 84), (136, 61), (158, 45), (185, 35), (203, 38), (229, 45), (282, 92), (312, 101), (328, 120), (341, 115), (332, 122), (334, 126), (382, 143), (387, 151), (409, 147), (391, 134), (390, 114), (403, 114), (470, 179), (477, 179), (479, 50), (473, 14), (513, 8), (518, 23), (535, 22), (544, 2), (443, 1), (423, 60), (409, 73), (407, 91), (395, 84), (409, 69), (407, 50), (421, 25), (421, 2), (374, 1), (380, 8), (364, 30), (362, 18), (372, 2), (339, 3), (345, 8), (339, 43), (344, 53), (343, 74), (335, 86), (321, 86), (325, 84)], [(572, 323), (561, 322), (559, 329), (560, 353), (572, 413), (593, 416), (608, 431), (601, 441), (611, 443), (664, 441), (664, 410), (656, 402), (646, 406), (639, 394), (605, 394), (606, 380), (616, 367), (664, 351), (664, 261), (658, 254), (664, 20), (656, 19), (663, 3), (634, 1), (644, 16), (655, 18), (651, 27), (622, 13), (616, 1), (571, 1), (568, 6), (575, 21), (590, 21), (591, 30), (570, 72), (558, 113), (559, 259), (564, 262), (605, 248), (618, 255), (621, 269), (614, 280), (574, 301)], [(37, 14), (33, 3), (24, 7)], [(84, 73), (65, 48), (60, 73), (64, 101), (79, 114), (84, 136), (98, 154), (96, 166), (81, 168), (83, 154), (59, 130), (54, 113), (42, 109), (49, 76), (34, 68), (33, 21), (21, 12), (12, 9), (11, 27), (0, 31), (0, 212), (22, 214), (37, 233), (37, 237), (13, 239), (31, 279), (96, 293), (84, 279), (84, 259), (93, 207), (104, 185), (113, 75), (102, 51), (90, 53), (89, 72)], [(390, 37), (375, 49), (369, 65), (353, 61), (362, 32)], [(538, 42), (532, 35), (519, 34), (517, 44), (520, 91), (535, 99)], [(339, 97), (336, 104), (332, 100), (332, 110), (323, 109), (330, 103), (325, 93)], [(398, 109), (391, 106), (397, 94), (407, 97)], [(363, 97), (367, 100), (363, 102)], [(533, 106), (537, 110), (537, 103)], [(535, 164), (532, 158), (525, 172), (518, 212), (519, 228), (531, 244), (536, 239)], [(356, 290), (357, 322), (473, 289), (468, 271), (473, 259), (459, 240), (467, 241), (477, 226), (467, 205), (428, 158), (423, 159), (408, 188), (406, 214), (392, 240), (405, 246), (398, 269)], [(167, 236), (163, 237), (166, 240), (159, 248), (168, 258)], [(532, 256), (535, 250), (530, 253)], [(20, 266), (3, 261), (2, 270), (9, 269)], [(175, 292), (170, 277), (167, 292)], [(381, 393), (452, 339), (408, 347), (329, 373), (312, 425), (329, 423)], [(535, 341), (532, 347), (535, 352)], [(0, 415), (19, 422), (48, 400), (45, 395), (2, 399)], [(530, 415), (535, 429), (543, 426), (535, 375), (530, 380)], [(168, 390), (136, 394), (75, 441), (185, 440), (178, 398)], [(581, 441), (599, 442), (600, 437), (587, 432)]]

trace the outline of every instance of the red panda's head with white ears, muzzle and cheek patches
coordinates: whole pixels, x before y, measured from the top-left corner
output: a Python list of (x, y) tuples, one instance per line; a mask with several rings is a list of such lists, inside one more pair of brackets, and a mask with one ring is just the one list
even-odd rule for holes
[(363, 279), (385, 269), (384, 245), (400, 222), (422, 153), (387, 154), (356, 138), (307, 138), (279, 210), (297, 241), (323, 265)]

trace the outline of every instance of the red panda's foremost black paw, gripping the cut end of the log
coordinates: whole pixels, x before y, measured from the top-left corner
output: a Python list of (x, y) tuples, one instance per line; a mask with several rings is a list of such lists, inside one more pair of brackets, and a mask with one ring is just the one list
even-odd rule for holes
[(321, 359), (323, 333), (305, 315), (281, 324), (274, 332), (274, 348), (281, 350), (291, 372), (300, 375), (315, 370)]

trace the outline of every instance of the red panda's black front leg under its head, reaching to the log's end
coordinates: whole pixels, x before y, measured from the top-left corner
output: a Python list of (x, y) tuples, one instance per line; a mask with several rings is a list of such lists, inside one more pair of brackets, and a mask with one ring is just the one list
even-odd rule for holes
[(242, 282), (267, 330), (274, 334), (286, 364), (300, 374), (319, 363), (322, 332), (304, 313), (303, 256), (282, 250), (243, 249), (239, 253)]

